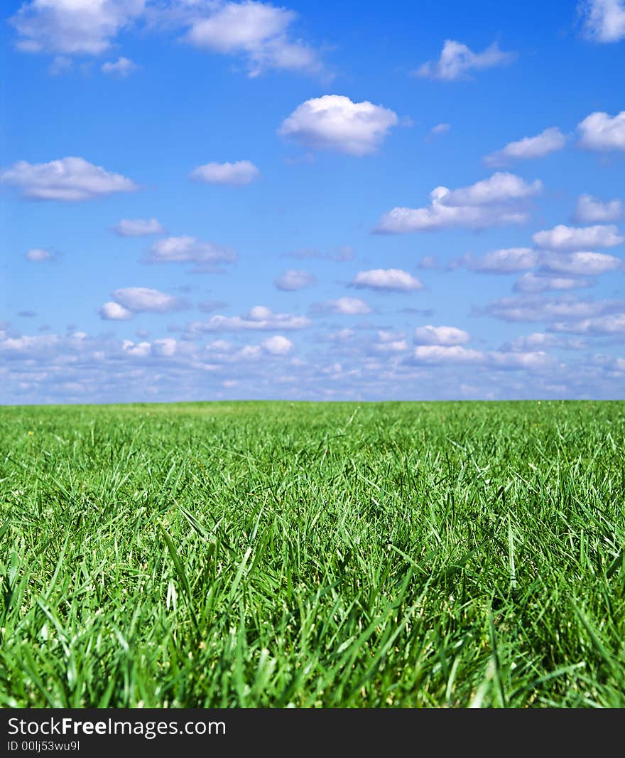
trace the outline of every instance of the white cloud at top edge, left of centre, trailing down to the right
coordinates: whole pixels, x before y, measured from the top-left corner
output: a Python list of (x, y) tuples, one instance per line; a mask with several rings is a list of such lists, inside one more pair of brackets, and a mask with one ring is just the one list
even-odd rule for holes
[(195, 17), (185, 39), (198, 48), (246, 56), (250, 77), (272, 68), (319, 73), (319, 53), (288, 37), (296, 17), (294, 11), (262, 2), (227, 2), (207, 17)]

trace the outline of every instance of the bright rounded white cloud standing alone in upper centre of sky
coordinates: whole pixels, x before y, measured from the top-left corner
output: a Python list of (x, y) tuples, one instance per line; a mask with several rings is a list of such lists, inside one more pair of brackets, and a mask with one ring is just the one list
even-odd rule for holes
[(343, 95), (306, 100), (285, 118), (278, 134), (304, 146), (366, 155), (378, 148), (397, 114), (368, 100), (352, 102)]

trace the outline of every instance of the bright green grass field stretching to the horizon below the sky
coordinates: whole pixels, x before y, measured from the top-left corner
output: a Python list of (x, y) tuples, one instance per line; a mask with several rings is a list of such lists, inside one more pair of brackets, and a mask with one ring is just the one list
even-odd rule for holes
[(625, 707), (625, 402), (0, 408), (2, 707)]

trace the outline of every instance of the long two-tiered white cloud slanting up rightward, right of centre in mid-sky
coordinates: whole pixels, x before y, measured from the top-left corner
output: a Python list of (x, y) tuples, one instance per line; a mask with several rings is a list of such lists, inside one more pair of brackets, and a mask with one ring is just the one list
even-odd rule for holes
[(399, 234), (447, 227), (484, 229), (521, 224), (529, 218), (527, 199), (542, 188), (539, 180), (527, 183), (505, 171), (461, 189), (439, 186), (430, 193), (431, 205), (393, 208), (382, 216), (375, 231)]

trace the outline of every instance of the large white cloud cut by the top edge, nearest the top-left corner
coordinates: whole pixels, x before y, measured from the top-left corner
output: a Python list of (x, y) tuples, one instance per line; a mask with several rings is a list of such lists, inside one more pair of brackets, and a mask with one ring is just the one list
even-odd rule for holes
[(145, 0), (31, 0), (10, 22), (23, 52), (99, 55), (144, 9)]

